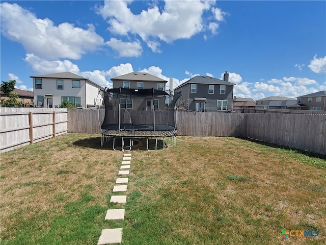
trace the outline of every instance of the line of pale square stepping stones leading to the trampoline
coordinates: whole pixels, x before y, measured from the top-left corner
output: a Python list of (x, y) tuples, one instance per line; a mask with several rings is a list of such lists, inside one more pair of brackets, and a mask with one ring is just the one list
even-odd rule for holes
[[(130, 169), (131, 154), (130, 153), (123, 154), (122, 160), (123, 161), (121, 162), (120, 169)], [(129, 174), (130, 174), (130, 170), (118, 171), (118, 175), (129, 175)], [(113, 187), (112, 192), (127, 191), (127, 185), (119, 185), (119, 184), (127, 184), (128, 182), (129, 182), (128, 178), (117, 178), (116, 185)], [(110, 203), (126, 203), (126, 200), (127, 200), (126, 195), (112, 195)], [(108, 209), (106, 211), (105, 220), (124, 219), (124, 211), (125, 211), (124, 208)], [(122, 230), (123, 228), (102, 230), (101, 235), (98, 238), (97, 245), (121, 243)]]

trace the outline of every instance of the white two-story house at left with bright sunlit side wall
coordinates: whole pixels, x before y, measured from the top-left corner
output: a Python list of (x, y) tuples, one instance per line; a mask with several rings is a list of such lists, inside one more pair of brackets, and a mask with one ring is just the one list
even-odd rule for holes
[(61, 72), (33, 78), (35, 106), (43, 108), (60, 107), (63, 101), (76, 108), (102, 105), (102, 97), (98, 94), (103, 87), (80, 77), (72, 72)]

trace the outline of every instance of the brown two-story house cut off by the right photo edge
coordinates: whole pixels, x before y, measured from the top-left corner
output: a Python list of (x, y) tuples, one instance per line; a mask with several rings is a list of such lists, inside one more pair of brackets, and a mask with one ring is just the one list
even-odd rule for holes
[(303, 110), (325, 111), (326, 90), (299, 96), (297, 104), (302, 105)]

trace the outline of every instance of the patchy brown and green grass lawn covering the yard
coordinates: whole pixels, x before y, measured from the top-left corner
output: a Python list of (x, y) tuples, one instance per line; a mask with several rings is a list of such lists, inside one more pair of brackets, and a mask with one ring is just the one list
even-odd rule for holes
[[(65, 134), (1, 155), (1, 244), (96, 244), (108, 228), (123, 228), (130, 245), (326, 243), (323, 159), (178, 137), (177, 147), (132, 152), (127, 192), (115, 193), (127, 203), (112, 204), (123, 153), (99, 144), (100, 135)], [(112, 208), (125, 219), (104, 220)], [(285, 239), (282, 229), (318, 236)]]

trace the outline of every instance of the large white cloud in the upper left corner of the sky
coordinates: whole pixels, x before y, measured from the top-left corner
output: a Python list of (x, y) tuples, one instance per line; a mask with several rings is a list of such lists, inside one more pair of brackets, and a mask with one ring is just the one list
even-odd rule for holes
[(50, 60), (80, 59), (103, 44), (92, 25), (87, 30), (66, 22), (55, 26), (50, 19), (38, 19), (29, 10), (9, 3), (1, 4), (1, 32), (21, 43), (28, 53)]

